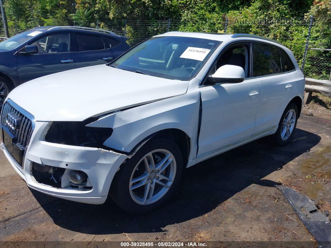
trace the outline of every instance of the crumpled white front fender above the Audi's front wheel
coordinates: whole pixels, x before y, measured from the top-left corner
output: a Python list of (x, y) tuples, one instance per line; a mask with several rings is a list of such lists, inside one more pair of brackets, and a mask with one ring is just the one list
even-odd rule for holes
[(125, 153), (134, 152), (137, 145), (158, 131), (177, 128), (191, 139), (193, 158), (196, 154), (193, 150), (197, 149), (199, 104), (200, 92), (196, 91), (115, 112), (87, 126), (113, 128), (104, 145)]

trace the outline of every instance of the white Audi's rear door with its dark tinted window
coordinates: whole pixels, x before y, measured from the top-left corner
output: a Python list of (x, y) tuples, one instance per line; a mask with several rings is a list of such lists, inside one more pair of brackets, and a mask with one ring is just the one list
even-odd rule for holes
[(260, 101), (255, 118), (254, 134), (273, 128), (290, 101), (292, 79), (282, 70), (278, 48), (253, 42), (253, 76), (260, 82)]

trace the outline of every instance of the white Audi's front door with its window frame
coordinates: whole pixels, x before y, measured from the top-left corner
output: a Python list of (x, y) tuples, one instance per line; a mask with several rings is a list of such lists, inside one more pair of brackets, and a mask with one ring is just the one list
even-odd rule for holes
[(246, 74), (243, 82), (207, 83), (200, 87), (202, 120), (198, 157), (225, 149), (253, 135), (260, 83), (256, 77), (251, 77), (249, 54), (249, 44), (236, 44), (222, 53), (210, 73), (225, 64), (241, 66)]

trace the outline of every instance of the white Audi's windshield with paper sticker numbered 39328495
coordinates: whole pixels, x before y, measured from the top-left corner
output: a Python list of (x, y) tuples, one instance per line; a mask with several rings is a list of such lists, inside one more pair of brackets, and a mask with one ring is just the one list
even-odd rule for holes
[(151, 76), (190, 80), (221, 41), (163, 36), (149, 39), (109, 66)]

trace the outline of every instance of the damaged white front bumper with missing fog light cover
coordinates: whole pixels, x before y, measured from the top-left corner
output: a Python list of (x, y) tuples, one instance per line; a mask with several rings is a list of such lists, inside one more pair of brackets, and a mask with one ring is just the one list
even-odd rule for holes
[[(99, 148), (46, 142), (43, 137), (47, 125), (46, 122), (35, 122), (22, 167), (1, 143), (0, 148), (4, 151), (13, 168), (30, 188), (42, 193), (82, 203), (104, 203), (112, 179), (127, 156)], [(52, 168), (51, 172), (58, 169), (59, 174), (54, 179), (51, 178), (53, 174), (50, 172), (46, 172), (45, 175), (48, 180), (54, 180), (57, 184), (50, 185), (39, 180), (34, 173), (34, 164)], [(72, 185), (68, 180), (68, 174), (71, 171), (86, 173), (88, 187)]]

